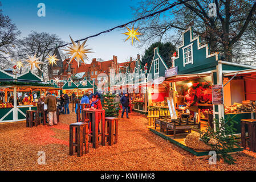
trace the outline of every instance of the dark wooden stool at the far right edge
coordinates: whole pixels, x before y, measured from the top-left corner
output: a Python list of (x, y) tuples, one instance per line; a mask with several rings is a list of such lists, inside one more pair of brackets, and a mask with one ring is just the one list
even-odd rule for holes
[[(248, 137), (245, 135), (245, 125), (248, 126)], [(242, 147), (246, 148), (246, 140), (249, 141), (250, 151), (256, 152), (256, 119), (241, 119)]]

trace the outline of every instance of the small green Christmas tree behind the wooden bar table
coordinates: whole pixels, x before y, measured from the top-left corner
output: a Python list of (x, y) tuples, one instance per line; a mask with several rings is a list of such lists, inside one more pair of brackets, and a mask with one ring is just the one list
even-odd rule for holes
[(119, 115), (119, 103), (115, 103), (115, 95), (112, 94), (104, 94), (103, 95), (103, 109), (105, 110), (106, 117), (118, 117)]

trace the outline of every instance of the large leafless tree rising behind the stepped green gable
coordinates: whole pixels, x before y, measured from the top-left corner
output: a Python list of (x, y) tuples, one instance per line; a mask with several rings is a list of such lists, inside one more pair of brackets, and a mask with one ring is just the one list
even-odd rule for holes
[[(139, 7), (133, 8), (133, 11), (137, 17), (141, 17), (165, 9), (173, 2), (172, 0), (142, 0)], [(184, 2), (184, 0), (175, 2)], [(214, 3), (216, 8), (209, 9), (210, 3)], [(202, 37), (202, 42), (209, 43), (212, 52), (221, 52), (226, 61), (232, 61), (232, 48), (242, 39), (249, 23), (255, 21), (255, 10), (255, 0), (184, 2), (151, 19), (141, 20), (138, 26), (143, 35), (141, 36), (142, 44), (139, 46), (155, 42), (156, 39), (157, 41), (162, 39), (170, 41), (169, 37), (173, 31), (176, 32), (178, 39), (182, 31), (193, 26), (194, 32)]]

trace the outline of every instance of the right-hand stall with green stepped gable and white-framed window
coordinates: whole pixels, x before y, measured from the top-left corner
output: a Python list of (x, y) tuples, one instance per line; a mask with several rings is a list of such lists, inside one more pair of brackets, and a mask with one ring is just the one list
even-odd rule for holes
[[(199, 114), (196, 123), (200, 123), (200, 129), (204, 130), (207, 127), (206, 122), (208, 122), (205, 111), (206, 113), (213, 113), (212, 120), (218, 120), (225, 118), (226, 114), (228, 114), (225, 114), (224, 104), (232, 106), (234, 102), (243, 104), (245, 100), (250, 100), (250, 103), (251, 100), (255, 100), (254, 92), (256, 93), (256, 90), (253, 90), (250, 86), (247, 86), (247, 88), (244, 86), (245, 84), (248, 85), (248, 83), (252, 84), (253, 78), (255, 77), (254, 73), (249, 74), (248, 70), (255, 71), (255, 67), (222, 61), (219, 60), (218, 53), (210, 54), (208, 45), (202, 45), (198, 36), (193, 37), (193, 30), (189, 28), (182, 34), (182, 46), (178, 47), (177, 56), (173, 59), (173, 68), (165, 72), (165, 79), (162, 84), (164, 84), (166, 88), (169, 88), (169, 95), (164, 97), (169, 97), (170, 93), (172, 93), (170, 97), (173, 99), (173, 107), (178, 116), (180, 112), (184, 112), (184, 96), (187, 94), (188, 89), (192, 88), (193, 92), (197, 95), (196, 106), (198, 107)], [(235, 81), (230, 81), (225, 85), (235, 74), (240, 74), (240, 77), (238, 76)], [(241, 78), (243, 81), (241, 81)], [(164, 91), (160, 91), (160, 93), (162, 92)], [(159, 96), (161, 96), (161, 94), (159, 94)], [(151, 101), (148, 102), (149, 105), (152, 105)], [(164, 101), (162, 101), (162, 103), (160, 102), (160, 106), (161, 104), (162, 106), (166, 106)], [(154, 117), (157, 118), (159, 116), (156, 115)], [(238, 113), (237, 117), (234, 119), (240, 123), (241, 118), (246, 119), (253, 117), (254, 114), (252, 114), (252, 112)], [(188, 133), (175, 138), (172, 134), (168, 135), (168, 133), (163, 132), (163, 130), (160, 131), (161, 129), (155, 127), (156, 121), (153, 123), (149, 122), (149, 126), (153, 133), (163, 138), (168, 138), (170, 142), (181, 146), (197, 156), (206, 154), (205, 151), (196, 151), (186, 147), (184, 139)], [(213, 122), (212, 127), (216, 130), (219, 126)], [(239, 135), (239, 133), (241, 133), (241, 126), (238, 124), (235, 127), (237, 128), (236, 133)], [(239, 150), (242, 149), (234, 148), (234, 151)]]

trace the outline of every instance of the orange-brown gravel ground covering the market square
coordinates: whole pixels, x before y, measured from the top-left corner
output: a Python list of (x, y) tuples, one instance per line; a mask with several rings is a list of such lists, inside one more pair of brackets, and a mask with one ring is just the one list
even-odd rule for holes
[[(68, 155), (68, 124), (75, 113), (60, 115), (56, 126), (26, 128), (25, 122), (0, 124), (0, 170), (256, 170), (256, 155), (234, 154), (237, 163), (209, 165), (208, 158), (196, 158), (182, 148), (151, 133), (144, 115), (132, 113), (120, 119), (118, 143), (90, 146), (78, 158)], [(46, 164), (38, 164), (38, 151), (46, 154)]]

